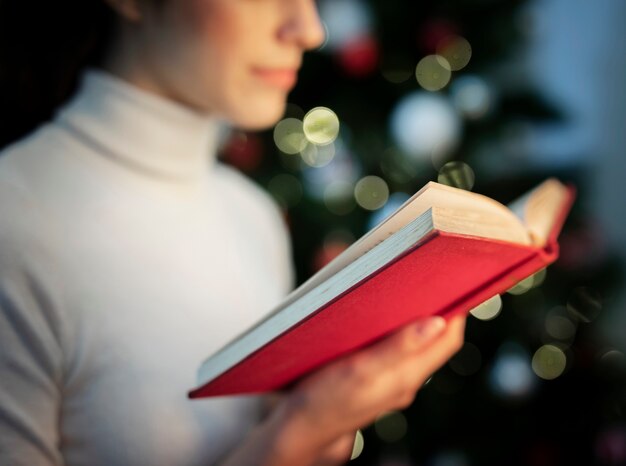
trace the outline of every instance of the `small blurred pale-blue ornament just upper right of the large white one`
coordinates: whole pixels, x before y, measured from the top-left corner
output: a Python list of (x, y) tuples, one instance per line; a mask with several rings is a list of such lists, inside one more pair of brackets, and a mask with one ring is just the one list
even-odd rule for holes
[(452, 103), (463, 116), (477, 120), (493, 108), (493, 93), (487, 83), (475, 75), (459, 76), (450, 86)]

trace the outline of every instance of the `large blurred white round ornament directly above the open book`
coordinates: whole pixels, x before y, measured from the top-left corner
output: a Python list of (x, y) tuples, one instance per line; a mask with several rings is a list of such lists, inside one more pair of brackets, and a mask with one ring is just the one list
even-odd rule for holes
[(419, 91), (405, 96), (394, 108), (390, 124), (396, 145), (417, 160), (430, 161), (435, 151), (447, 156), (461, 137), (461, 119), (440, 94)]

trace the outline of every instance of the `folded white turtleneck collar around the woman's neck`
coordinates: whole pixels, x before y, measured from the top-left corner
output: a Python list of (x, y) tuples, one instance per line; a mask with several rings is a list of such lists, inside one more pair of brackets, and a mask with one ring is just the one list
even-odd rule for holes
[(221, 126), (216, 118), (95, 68), (84, 71), (55, 121), (115, 162), (178, 181), (208, 174)]

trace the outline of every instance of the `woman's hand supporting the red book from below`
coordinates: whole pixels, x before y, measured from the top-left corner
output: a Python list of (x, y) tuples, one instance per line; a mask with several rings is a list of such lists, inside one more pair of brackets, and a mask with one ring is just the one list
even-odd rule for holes
[(386, 411), (409, 406), (431, 374), (461, 348), (464, 330), (465, 316), (447, 324), (440, 317), (420, 320), (324, 366), (278, 400), (229, 464), (347, 461), (355, 431)]

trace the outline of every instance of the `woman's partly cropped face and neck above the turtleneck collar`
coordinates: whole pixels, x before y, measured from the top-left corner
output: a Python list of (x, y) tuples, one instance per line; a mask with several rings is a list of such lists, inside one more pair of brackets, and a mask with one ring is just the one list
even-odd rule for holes
[(303, 52), (324, 39), (314, 0), (154, 3), (141, 3), (139, 19), (126, 22), (112, 66), (121, 63), (123, 77), (140, 87), (246, 129), (282, 116)]

